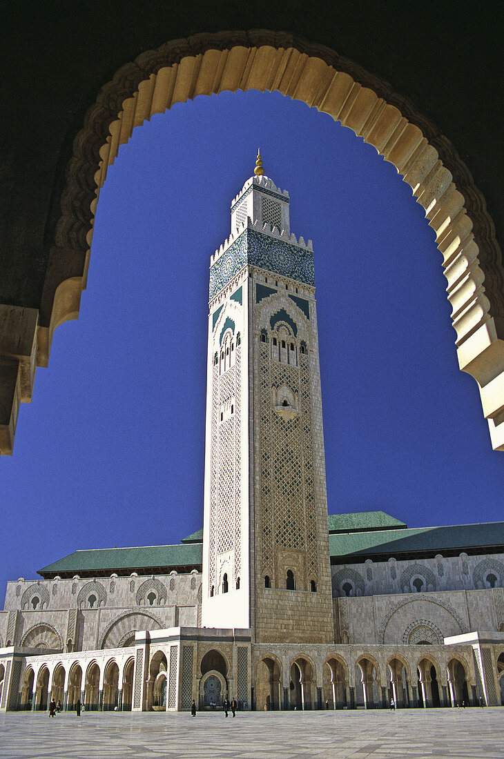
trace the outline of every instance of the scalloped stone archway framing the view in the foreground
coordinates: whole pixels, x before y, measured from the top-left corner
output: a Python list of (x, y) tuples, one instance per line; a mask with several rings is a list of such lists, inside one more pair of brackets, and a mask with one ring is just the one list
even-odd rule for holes
[[(74, 140), (39, 326), (24, 326), (25, 342), (38, 342), (39, 365), (47, 365), (54, 329), (78, 317), (99, 189), (118, 147), (135, 127), (175, 102), (238, 89), (278, 90), (331, 115), (372, 144), (410, 185), (443, 254), (459, 365), (477, 379), (493, 447), (504, 449), (498, 387), (504, 377), (504, 272), (484, 197), (449, 140), (408, 100), (333, 50), (288, 33), (178, 39), (143, 52), (102, 87)], [(27, 401), (33, 386), (30, 358), (21, 364), (26, 387), (20, 400)], [(3, 452), (11, 452), (15, 417), (13, 412)]]

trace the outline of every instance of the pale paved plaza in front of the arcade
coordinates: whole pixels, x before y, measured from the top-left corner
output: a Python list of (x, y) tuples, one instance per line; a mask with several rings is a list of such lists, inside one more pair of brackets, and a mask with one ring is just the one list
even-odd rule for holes
[(4, 713), (2, 759), (504, 757), (504, 710)]

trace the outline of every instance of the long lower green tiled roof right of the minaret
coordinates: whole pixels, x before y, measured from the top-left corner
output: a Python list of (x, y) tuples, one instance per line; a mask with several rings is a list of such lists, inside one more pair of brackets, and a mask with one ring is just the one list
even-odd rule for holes
[(380, 554), (395, 556), (398, 553), (443, 553), (503, 544), (504, 522), (329, 535), (332, 559)]

